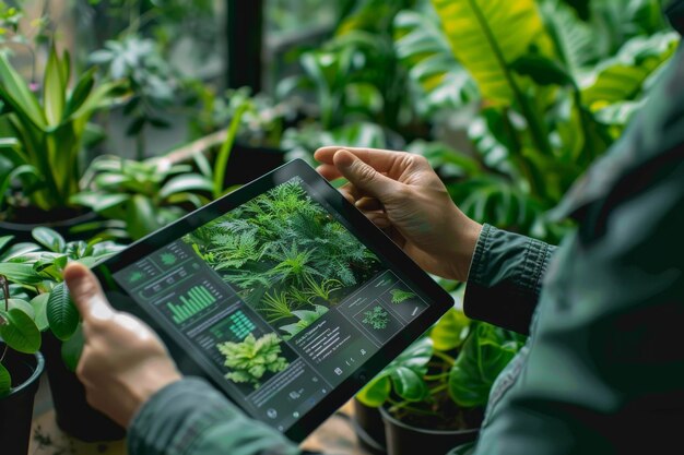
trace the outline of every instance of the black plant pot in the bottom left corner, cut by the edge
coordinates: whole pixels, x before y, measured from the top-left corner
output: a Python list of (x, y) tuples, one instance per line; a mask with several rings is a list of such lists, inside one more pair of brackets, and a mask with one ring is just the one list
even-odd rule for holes
[(33, 400), (45, 361), (40, 352), (26, 355), (9, 350), (2, 363), (12, 375), (13, 388), (10, 395), (0, 398), (0, 447), (2, 455), (26, 455)]

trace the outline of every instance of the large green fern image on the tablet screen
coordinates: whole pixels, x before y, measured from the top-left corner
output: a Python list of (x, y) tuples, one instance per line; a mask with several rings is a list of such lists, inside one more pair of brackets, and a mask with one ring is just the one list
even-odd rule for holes
[(385, 270), (296, 178), (184, 241), (284, 339)]

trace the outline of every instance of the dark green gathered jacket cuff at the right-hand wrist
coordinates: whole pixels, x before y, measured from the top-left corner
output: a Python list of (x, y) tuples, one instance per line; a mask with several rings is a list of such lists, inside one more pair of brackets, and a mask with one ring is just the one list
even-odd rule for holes
[(484, 225), (470, 266), (469, 318), (529, 334), (541, 282), (556, 247)]

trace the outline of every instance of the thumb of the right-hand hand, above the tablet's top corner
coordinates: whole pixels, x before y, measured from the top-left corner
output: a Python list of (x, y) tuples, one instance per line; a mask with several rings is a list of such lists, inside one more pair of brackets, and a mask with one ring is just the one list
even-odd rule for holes
[(380, 202), (394, 194), (401, 184), (381, 175), (349, 151), (338, 151), (332, 160), (340, 173), (354, 187)]

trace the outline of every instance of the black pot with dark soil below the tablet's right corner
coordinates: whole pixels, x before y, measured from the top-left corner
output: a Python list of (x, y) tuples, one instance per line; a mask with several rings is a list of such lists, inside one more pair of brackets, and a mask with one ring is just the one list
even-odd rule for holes
[(415, 455), (426, 451), (431, 455), (445, 455), (477, 439), (484, 417), (481, 408), (461, 409), (448, 396), (433, 408), (420, 405), (423, 405), (422, 412), (405, 409), (390, 412), (380, 408), (389, 455)]

